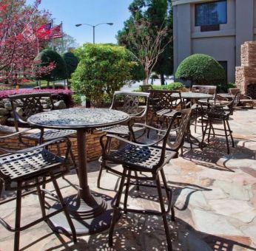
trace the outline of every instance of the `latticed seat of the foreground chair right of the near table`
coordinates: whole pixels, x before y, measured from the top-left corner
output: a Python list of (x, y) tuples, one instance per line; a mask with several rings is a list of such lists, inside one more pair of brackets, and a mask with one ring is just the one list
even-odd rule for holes
[[(132, 167), (135, 171), (152, 172), (155, 165), (159, 163), (161, 151), (161, 147), (156, 146), (126, 145), (124, 148), (107, 155), (105, 160)], [(162, 166), (175, 157), (178, 157), (176, 151), (166, 150)]]

